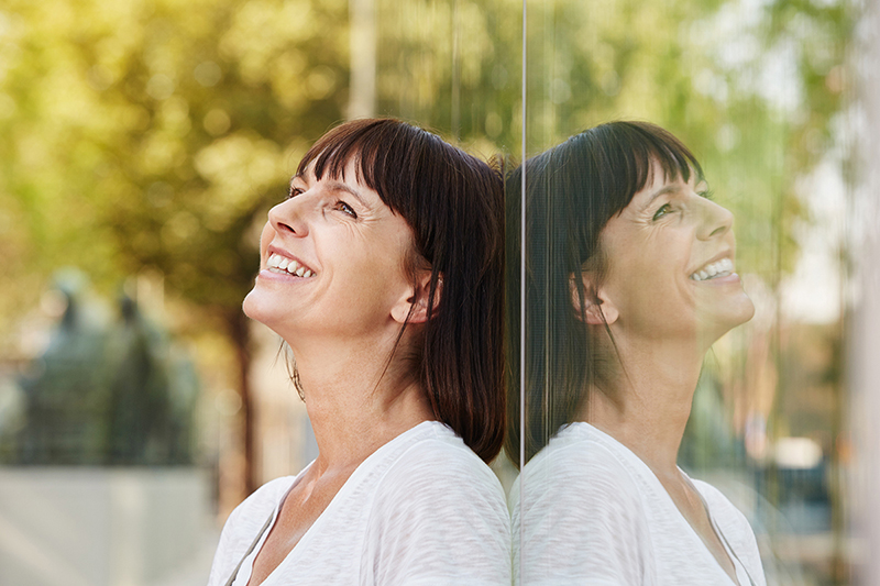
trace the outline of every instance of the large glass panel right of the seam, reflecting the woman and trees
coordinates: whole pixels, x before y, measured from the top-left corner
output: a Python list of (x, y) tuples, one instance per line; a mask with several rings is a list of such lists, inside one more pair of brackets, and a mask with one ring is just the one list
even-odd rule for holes
[[(683, 177), (696, 170), (683, 155), (659, 183), (639, 181), (640, 161), (670, 153), (658, 144), (683, 152), (656, 130), (623, 125), (526, 167), (521, 434), (527, 454), (543, 453), (515, 488), (524, 583), (591, 572), (629, 583), (636, 568), (669, 579), (663, 568), (679, 562), (684, 576), (707, 568), (760, 583), (756, 550), (733, 543), (748, 526), (727, 515), (728, 500), (757, 535), (768, 583), (848, 582), (857, 560), (846, 532), (843, 347), (856, 9), (554, 1), (527, 10), (528, 155), (597, 124), (647, 121), (686, 145), (707, 186)], [(634, 144), (652, 154), (639, 157)], [(615, 195), (626, 180), (635, 188)], [(510, 330), (515, 375), (519, 333)], [(557, 434), (580, 421), (592, 427)], [(690, 541), (658, 538), (658, 519)], [(640, 539), (679, 557), (651, 557)]]

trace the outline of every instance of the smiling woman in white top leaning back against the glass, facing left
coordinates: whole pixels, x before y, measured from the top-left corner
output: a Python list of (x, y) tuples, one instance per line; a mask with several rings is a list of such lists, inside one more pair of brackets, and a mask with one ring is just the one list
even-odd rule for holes
[(319, 455), (232, 512), (211, 586), (509, 584), (484, 463), (504, 432), (502, 191), (396, 120), (306, 154), (244, 311), (293, 350)]

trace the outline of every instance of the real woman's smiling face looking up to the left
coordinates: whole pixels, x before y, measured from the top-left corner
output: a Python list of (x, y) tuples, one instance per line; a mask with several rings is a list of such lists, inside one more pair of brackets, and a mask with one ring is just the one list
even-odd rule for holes
[(406, 221), (356, 179), (353, 162), (339, 179), (317, 180), (309, 166), (292, 196), (268, 212), (244, 312), (292, 345), (304, 334), (355, 341), (393, 325), (392, 308), (411, 289)]

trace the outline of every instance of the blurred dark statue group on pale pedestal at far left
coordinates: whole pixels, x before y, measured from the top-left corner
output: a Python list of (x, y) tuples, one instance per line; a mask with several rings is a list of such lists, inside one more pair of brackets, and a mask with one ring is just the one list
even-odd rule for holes
[(19, 380), (25, 421), (0, 455), (28, 465), (191, 464), (191, 361), (128, 295), (108, 323), (87, 310), (85, 279), (58, 278), (56, 288), (66, 309)]

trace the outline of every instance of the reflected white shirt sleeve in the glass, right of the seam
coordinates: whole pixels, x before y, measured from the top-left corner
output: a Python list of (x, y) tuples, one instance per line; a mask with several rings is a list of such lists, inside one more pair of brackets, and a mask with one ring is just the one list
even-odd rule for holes
[(650, 584), (638, 486), (601, 447), (570, 452), (527, 466), (521, 491), (512, 495), (514, 574), (524, 586)]

